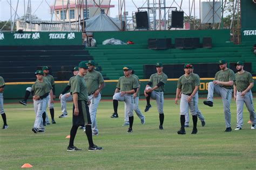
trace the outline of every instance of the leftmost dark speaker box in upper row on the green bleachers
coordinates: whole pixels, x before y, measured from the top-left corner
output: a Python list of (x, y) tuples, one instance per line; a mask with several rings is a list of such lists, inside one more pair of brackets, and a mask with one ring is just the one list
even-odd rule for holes
[(149, 49), (169, 49), (171, 48), (172, 39), (162, 38), (162, 39), (149, 39), (148, 48)]

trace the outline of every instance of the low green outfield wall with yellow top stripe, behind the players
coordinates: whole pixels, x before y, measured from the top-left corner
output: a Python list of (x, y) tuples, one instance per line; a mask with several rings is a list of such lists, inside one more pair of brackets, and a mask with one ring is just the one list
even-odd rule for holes
[[(253, 77), (256, 80), (256, 77)], [(208, 82), (212, 81), (211, 78), (202, 78), (199, 94), (207, 94), (207, 85)], [(143, 95), (144, 88), (147, 84), (148, 80), (141, 80), (141, 88), (140, 95)], [(165, 85), (165, 94), (176, 94), (178, 79), (169, 79)], [(4, 98), (5, 99), (14, 99), (14, 98), (23, 98), (25, 94), (25, 90), (27, 87), (31, 87), (33, 82), (15, 82), (15, 83), (6, 83), (4, 89)], [(56, 81), (56, 96), (62, 92), (62, 90), (66, 87), (68, 81)], [(116, 89), (117, 80), (106, 80), (106, 86), (102, 90), (102, 96), (112, 96), (114, 94), (114, 90)], [(256, 86), (252, 89), (253, 92), (256, 92)]]

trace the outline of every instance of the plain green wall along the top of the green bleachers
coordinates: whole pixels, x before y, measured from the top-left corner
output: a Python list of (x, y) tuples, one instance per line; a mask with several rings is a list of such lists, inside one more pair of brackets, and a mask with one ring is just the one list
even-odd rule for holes
[(147, 44), (150, 38), (175, 38), (199, 37), (202, 42), (203, 37), (211, 37), (212, 44), (220, 44), (230, 41), (230, 30), (169, 30), (169, 31), (107, 31), (94, 32), (93, 37), (97, 44), (102, 44), (106, 39), (114, 38), (124, 42), (133, 41), (134, 44)]

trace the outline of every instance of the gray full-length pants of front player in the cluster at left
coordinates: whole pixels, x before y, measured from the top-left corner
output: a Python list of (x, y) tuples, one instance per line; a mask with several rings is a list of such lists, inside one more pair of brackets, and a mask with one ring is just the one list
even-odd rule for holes
[(43, 125), (43, 112), (46, 109), (46, 98), (42, 99), (42, 100), (34, 100), (33, 101), (33, 105), (34, 105), (34, 110), (36, 113), (36, 120), (34, 123), (34, 128), (38, 129), (38, 130), (45, 130), (44, 129), (44, 125)]

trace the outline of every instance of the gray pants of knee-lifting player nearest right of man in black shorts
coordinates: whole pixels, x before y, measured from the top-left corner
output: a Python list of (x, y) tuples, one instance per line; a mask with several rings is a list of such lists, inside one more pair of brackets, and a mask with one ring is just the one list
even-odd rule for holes
[[(121, 96), (121, 93), (116, 93), (113, 95), (113, 100), (125, 102), (125, 111), (129, 117), (133, 116), (133, 105), (134, 105), (134, 98), (133, 95), (125, 94)], [(125, 114), (126, 114), (125, 113)]]

